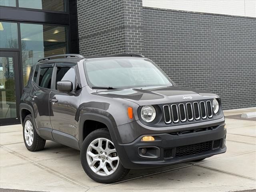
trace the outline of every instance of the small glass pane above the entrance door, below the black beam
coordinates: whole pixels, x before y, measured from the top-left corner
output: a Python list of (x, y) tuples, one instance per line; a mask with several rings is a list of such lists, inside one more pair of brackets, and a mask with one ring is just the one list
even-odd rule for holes
[(18, 24), (0, 22), (0, 48), (18, 48)]

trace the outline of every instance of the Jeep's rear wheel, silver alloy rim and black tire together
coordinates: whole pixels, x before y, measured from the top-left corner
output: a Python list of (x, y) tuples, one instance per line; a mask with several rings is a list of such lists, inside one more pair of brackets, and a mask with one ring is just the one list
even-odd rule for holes
[(40, 151), (45, 146), (46, 140), (37, 134), (31, 115), (27, 115), (24, 119), (23, 140), (26, 148), (30, 151)]

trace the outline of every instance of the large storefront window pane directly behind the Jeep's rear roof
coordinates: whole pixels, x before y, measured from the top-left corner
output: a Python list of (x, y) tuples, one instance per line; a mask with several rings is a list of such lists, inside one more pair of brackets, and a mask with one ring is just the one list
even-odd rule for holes
[(65, 26), (21, 23), (20, 34), (23, 82), (26, 85), (30, 68), (39, 59), (67, 53), (67, 28)]

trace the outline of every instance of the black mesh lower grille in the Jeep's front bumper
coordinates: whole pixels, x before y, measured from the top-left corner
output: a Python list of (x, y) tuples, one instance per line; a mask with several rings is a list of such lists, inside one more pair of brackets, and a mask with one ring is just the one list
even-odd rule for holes
[(164, 159), (172, 158), (172, 151), (174, 149), (175, 158), (178, 157), (185, 157), (190, 155), (196, 155), (204, 152), (208, 152), (211, 150), (217, 150), (220, 148), (222, 140), (215, 140), (215, 141), (206, 141), (202, 143), (186, 145), (186, 146), (179, 146), (176, 148), (164, 149)]

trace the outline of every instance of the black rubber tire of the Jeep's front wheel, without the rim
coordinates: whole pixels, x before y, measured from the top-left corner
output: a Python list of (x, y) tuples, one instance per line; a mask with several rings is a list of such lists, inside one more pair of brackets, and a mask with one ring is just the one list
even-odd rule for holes
[(97, 138), (106, 138), (106, 139), (112, 141), (110, 133), (107, 128), (95, 130), (95, 131), (91, 132), (84, 139), (84, 142), (82, 144), (82, 148), (80, 151), (80, 159), (81, 159), (81, 164), (82, 164), (84, 171), (92, 180), (94, 180), (96, 182), (100, 182), (100, 183), (113, 183), (113, 182), (117, 182), (118, 180), (121, 180), (122, 178), (124, 178), (126, 176), (126, 174), (128, 174), (129, 169), (124, 168), (122, 166), (120, 160), (119, 160), (118, 168), (115, 170), (114, 173), (112, 173), (111, 175), (108, 175), (108, 176), (100, 176), (100, 175), (94, 173), (92, 171), (92, 169), (90, 168), (90, 166), (88, 165), (88, 162), (86, 160), (87, 148), (90, 145), (90, 143)]

